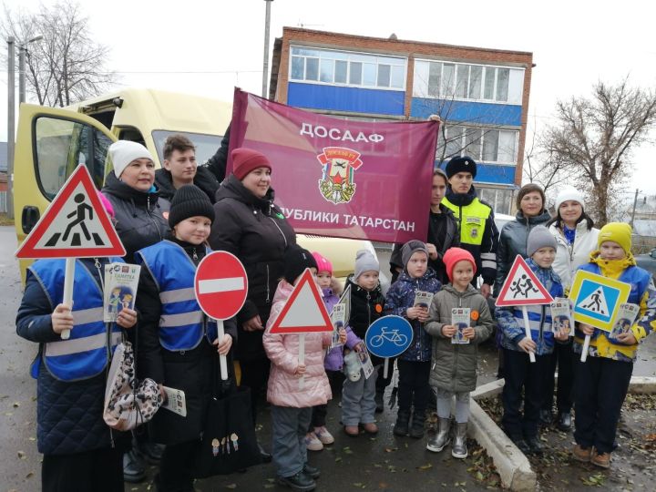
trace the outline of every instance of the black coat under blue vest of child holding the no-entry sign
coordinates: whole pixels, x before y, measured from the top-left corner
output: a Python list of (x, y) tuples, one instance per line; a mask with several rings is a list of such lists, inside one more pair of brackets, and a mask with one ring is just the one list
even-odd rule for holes
[[(205, 247), (189, 242), (178, 243), (192, 261), (198, 265), (205, 256)], [(196, 259), (194, 259), (194, 252)], [(190, 279), (193, 283), (193, 279)], [(174, 444), (193, 441), (200, 437), (205, 424), (207, 406), (212, 395), (213, 383), (219, 382), (217, 375), (219, 355), (207, 337), (199, 345), (188, 351), (172, 352), (159, 343), (159, 318), (161, 302), (159, 288), (148, 268), (141, 269), (139, 276), (137, 310), (139, 313), (137, 343), (137, 374), (139, 378), (149, 377), (159, 384), (180, 389), (185, 392), (187, 416), (166, 409), (159, 409), (149, 423), (149, 433), (153, 441), (161, 444)], [(237, 327), (233, 320), (223, 322), (225, 333), (237, 341)], [(228, 364), (229, 372), (231, 365)]]

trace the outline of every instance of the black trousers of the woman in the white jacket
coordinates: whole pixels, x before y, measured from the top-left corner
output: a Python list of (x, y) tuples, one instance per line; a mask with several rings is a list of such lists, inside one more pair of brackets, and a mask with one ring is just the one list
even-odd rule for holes
[(554, 351), (549, 357), (549, 367), (545, 374), (545, 401), (543, 410), (551, 411), (553, 408), (553, 391), (555, 386), (556, 367), (559, 370), (558, 394), (556, 395), (556, 407), (559, 414), (569, 414), (574, 403), (572, 394), (574, 390), (574, 358), (576, 354), (572, 351), (572, 338), (568, 343), (556, 343)]

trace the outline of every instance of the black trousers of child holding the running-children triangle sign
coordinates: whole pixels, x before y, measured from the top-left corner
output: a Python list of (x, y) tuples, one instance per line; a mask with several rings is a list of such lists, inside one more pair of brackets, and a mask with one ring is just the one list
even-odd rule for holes
[[(549, 356), (536, 355), (530, 362), (528, 354), (516, 350), (504, 351), (506, 384), (502, 393), (504, 415), (501, 423), (508, 436), (538, 436), (539, 409), (544, 401), (544, 380)], [(524, 392), (524, 415), (519, 411)]]

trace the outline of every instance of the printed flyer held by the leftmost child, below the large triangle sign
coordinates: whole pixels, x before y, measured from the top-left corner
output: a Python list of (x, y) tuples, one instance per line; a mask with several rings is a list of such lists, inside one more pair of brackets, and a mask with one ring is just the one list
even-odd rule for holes
[(116, 322), (121, 309), (134, 309), (137, 301), (138, 276), (141, 267), (129, 263), (105, 265), (105, 302), (103, 320)]

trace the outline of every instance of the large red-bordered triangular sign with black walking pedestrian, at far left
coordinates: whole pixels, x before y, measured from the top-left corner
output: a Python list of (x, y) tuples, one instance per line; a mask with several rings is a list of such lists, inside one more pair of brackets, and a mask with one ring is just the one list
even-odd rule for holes
[(43, 217), (15, 252), (16, 258), (125, 256), (84, 165), (77, 166)]

